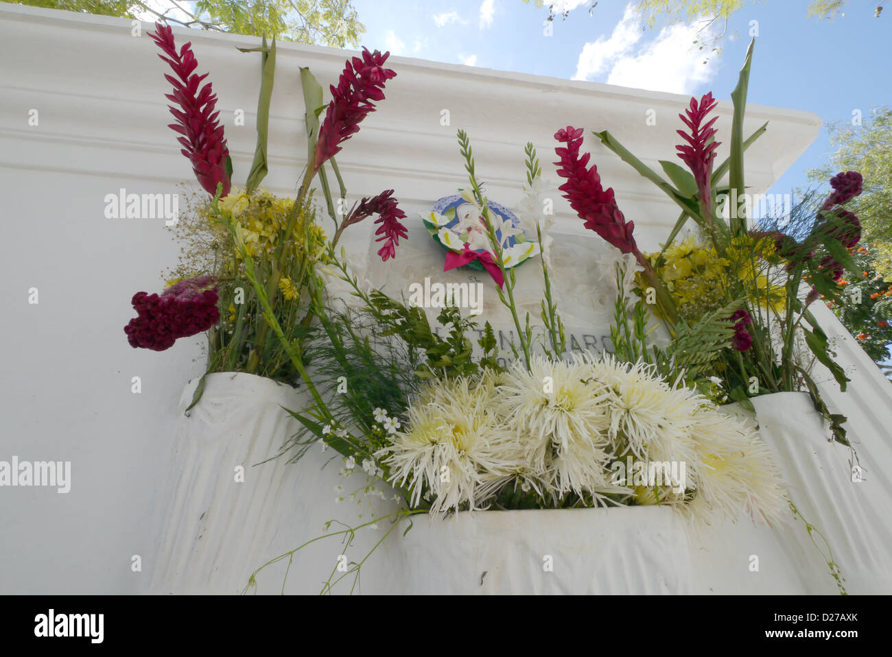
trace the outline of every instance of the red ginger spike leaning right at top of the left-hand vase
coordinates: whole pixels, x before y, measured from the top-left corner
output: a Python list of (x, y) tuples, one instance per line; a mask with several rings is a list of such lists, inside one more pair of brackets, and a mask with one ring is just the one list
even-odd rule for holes
[(362, 57), (348, 60), (341, 73), (338, 86), (331, 86), (332, 100), (326, 109), (326, 118), (319, 128), (313, 170), (341, 151), (341, 144), (359, 132), (359, 122), (370, 111), (375, 111), (372, 101), (384, 100), (384, 83), (396, 77), (396, 72), (384, 68), (390, 53), (369, 53), (362, 49)]

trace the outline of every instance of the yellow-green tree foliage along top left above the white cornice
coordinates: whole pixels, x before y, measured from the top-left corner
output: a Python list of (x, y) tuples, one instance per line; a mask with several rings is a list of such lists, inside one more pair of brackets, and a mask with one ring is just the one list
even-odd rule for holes
[[(169, 9), (159, 11), (157, 5), (142, 0), (3, 1), (131, 19), (148, 13), (155, 20), (186, 27), (335, 48), (359, 45), (359, 36), (366, 31), (351, 0), (197, 0), (194, 12), (186, 3), (171, 2)], [(173, 10), (185, 12), (186, 19), (172, 17)]]

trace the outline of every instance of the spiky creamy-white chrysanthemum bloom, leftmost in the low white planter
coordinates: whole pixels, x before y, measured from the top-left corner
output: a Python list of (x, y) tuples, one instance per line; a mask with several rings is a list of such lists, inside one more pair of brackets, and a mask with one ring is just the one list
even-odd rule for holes
[(409, 485), (412, 504), (422, 491), (434, 496), (432, 513), (480, 508), (523, 469), (523, 449), (492, 409), (484, 388), (467, 378), (433, 382), (409, 407), (405, 431), (383, 451), (391, 481)]

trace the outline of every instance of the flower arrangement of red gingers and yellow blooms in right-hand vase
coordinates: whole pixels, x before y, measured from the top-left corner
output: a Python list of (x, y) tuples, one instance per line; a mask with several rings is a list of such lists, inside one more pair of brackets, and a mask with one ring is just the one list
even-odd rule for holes
[[(797, 234), (781, 232), (778, 226), (747, 226), (747, 208), (751, 209), (752, 200), (744, 185), (743, 154), (767, 126), (744, 139), (743, 115), (754, 43), (749, 45), (738, 85), (731, 94), (731, 157), (717, 167), (715, 149), (719, 144), (714, 141), (714, 125), (718, 117), (709, 117), (716, 106), (712, 94), (699, 100), (692, 98), (686, 111), (679, 114), (684, 129), (678, 133), (684, 143), (677, 146), (677, 155), (689, 170), (673, 161), (660, 160), (665, 173), (661, 176), (609, 132), (594, 133), (681, 208), (681, 216), (659, 253), (646, 255), (637, 250), (632, 229), (616, 207), (612, 190), (601, 191), (594, 167), (586, 170), (584, 166), (567, 166), (565, 162), (578, 158), (575, 145), (556, 148), (565, 163), (558, 173), (568, 178), (567, 198), (586, 221), (585, 226), (635, 255), (641, 267), (637, 278), (640, 298), (646, 301), (652, 316), (664, 321), (674, 341), (684, 341), (703, 321), (700, 318), (710, 317), (715, 309), (731, 311), (725, 319), (733, 326), (733, 333), (724, 340), (701, 345), (703, 362), (696, 373), (689, 372), (690, 383), (698, 384), (699, 379), (705, 386), (706, 379), (718, 378), (728, 395), (747, 408), (752, 408), (749, 398), (756, 395), (807, 390), (835, 438), (848, 445), (845, 417), (831, 413), (822, 400), (812, 377), (813, 364), (816, 361), (826, 366), (841, 390), (846, 390), (848, 379), (833, 361), (827, 335), (808, 307), (820, 296), (825, 300), (838, 298), (843, 271), (854, 267), (848, 250), (860, 239), (860, 222), (843, 205), (861, 193), (861, 175), (854, 171), (840, 173), (830, 181), (833, 193), (817, 207), (810, 199), (794, 209), (792, 223), (799, 228)], [(561, 144), (578, 138), (579, 130), (572, 127), (555, 135)], [(582, 156), (579, 161), (587, 163), (588, 159)], [(727, 184), (722, 182), (725, 174)], [(585, 185), (600, 194), (597, 208), (575, 200), (577, 190)], [(775, 218), (774, 223), (779, 220)], [(676, 242), (689, 221), (696, 234)]]

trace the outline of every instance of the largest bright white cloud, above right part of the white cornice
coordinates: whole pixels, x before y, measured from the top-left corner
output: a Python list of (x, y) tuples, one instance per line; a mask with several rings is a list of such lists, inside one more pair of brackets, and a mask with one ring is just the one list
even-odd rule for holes
[(704, 64), (702, 53), (692, 47), (698, 29), (696, 22), (678, 23), (642, 41), (640, 19), (629, 4), (609, 38), (582, 47), (574, 79), (603, 78), (607, 73), (610, 85), (692, 94), (711, 82), (718, 70), (717, 55)]

